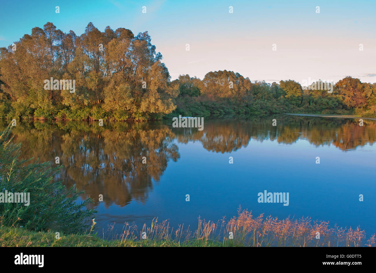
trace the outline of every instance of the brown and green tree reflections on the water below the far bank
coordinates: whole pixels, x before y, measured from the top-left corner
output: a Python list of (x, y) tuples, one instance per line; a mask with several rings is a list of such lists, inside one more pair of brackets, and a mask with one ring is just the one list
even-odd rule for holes
[(20, 122), (13, 133), (14, 142), (22, 144), (21, 157), (55, 163), (58, 156), (64, 168), (56, 179), (84, 190), (83, 198), (95, 198), (92, 207), (98, 205), (100, 194), (106, 207), (125, 206), (132, 199), (146, 201), (168, 162), (180, 158), (178, 143), (198, 141), (208, 151), (231, 153), (246, 147), (250, 139), (288, 145), (305, 139), (346, 152), (376, 141), (374, 120), (365, 119), (361, 127), (358, 119), (279, 116), (273, 127), (273, 118), (205, 120), (203, 131), (172, 128), (170, 120), (107, 122), (103, 127), (97, 122)]

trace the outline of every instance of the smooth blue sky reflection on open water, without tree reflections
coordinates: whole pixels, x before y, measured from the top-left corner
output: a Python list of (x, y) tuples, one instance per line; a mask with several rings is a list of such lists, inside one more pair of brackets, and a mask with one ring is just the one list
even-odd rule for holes
[[(365, 145), (343, 152), (333, 145), (314, 146), (305, 139), (292, 145), (276, 140), (250, 140), (246, 148), (231, 153), (207, 151), (199, 141), (178, 143), (180, 159), (170, 161), (159, 182), (154, 182), (145, 203), (132, 201), (125, 207), (98, 207), (96, 221), (125, 221), (138, 225), (170, 219), (173, 226), (197, 227), (197, 217), (217, 221), (237, 215), (237, 208), (256, 217), (279, 219), (294, 216), (329, 221), (334, 226), (360, 225), (367, 235), (376, 232), (376, 147)], [(229, 164), (229, 156), (233, 164)], [(320, 165), (315, 164), (320, 157)], [(289, 192), (290, 204), (258, 203), (258, 192)], [(190, 194), (190, 202), (185, 195)], [(359, 194), (364, 201), (359, 201)], [(103, 225), (105, 226), (105, 225)], [(119, 230), (120, 229), (120, 230)]]

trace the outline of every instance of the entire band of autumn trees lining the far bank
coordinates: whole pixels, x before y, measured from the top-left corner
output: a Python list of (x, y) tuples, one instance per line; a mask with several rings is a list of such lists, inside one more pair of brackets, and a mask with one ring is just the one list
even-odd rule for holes
[[(182, 114), (321, 113), (376, 117), (376, 83), (347, 76), (332, 93), (315, 82), (252, 83), (232, 71), (171, 81), (148, 32), (92, 23), (77, 36), (48, 22), (0, 52), (0, 119), (150, 120)], [(62, 90), (55, 81), (74, 81)], [(48, 88), (46, 88), (46, 86)], [(51, 88), (53, 87), (53, 88)], [(326, 86), (327, 87), (327, 86)], [(331, 91), (331, 90), (329, 90)]]

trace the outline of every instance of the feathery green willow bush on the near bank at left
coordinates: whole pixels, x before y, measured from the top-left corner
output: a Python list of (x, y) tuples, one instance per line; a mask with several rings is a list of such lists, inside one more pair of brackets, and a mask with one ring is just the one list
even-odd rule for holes
[(94, 212), (85, 206), (92, 200), (77, 203), (80, 192), (65, 188), (60, 181), (52, 181), (59, 167), (20, 160), (20, 146), (12, 143), (10, 126), (0, 132), (1, 192), (28, 193), (30, 196), (29, 205), (0, 202), (0, 226), (66, 233), (85, 231), (88, 227), (85, 221), (90, 220), (88, 217)]

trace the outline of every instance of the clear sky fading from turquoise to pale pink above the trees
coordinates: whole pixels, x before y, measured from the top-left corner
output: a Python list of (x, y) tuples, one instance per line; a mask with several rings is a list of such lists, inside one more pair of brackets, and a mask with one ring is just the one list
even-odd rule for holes
[(252, 81), (337, 81), (351, 75), (376, 82), (375, 12), (376, 1), (7, 1), (0, 46), (47, 21), (77, 35), (91, 21), (101, 31), (149, 31), (172, 79), (227, 69)]

